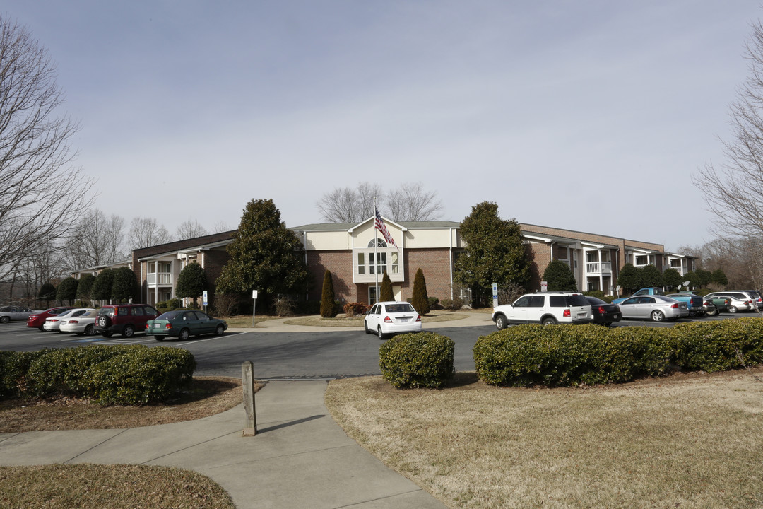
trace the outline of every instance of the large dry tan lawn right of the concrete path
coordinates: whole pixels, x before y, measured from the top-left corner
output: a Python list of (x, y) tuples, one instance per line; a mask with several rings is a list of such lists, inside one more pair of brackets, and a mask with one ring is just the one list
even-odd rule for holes
[[(757, 369), (760, 376), (761, 369)], [(330, 383), (351, 437), (451, 507), (763, 507), (763, 384), (748, 372), (595, 388)]]

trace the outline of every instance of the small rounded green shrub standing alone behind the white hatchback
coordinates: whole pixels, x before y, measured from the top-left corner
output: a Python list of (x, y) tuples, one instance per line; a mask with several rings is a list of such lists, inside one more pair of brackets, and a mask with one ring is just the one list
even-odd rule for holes
[(440, 388), (453, 376), (455, 343), (433, 332), (395, 336), (379, 348), (379, 368), (397, 388)]

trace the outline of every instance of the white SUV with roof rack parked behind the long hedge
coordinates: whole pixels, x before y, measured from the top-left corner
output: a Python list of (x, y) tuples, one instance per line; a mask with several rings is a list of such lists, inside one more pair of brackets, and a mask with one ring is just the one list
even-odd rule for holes
[(493, 321), (501, 330), (509, 324), (589, 324), (594, 315), (579, 292), (536, 292), (493, 308)]

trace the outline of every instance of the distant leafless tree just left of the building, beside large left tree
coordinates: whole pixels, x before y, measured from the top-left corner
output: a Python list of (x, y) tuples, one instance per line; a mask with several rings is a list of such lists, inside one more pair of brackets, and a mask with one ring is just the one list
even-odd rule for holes
[(85, 269), (114, 263), (124, 257), (124, 218), (116, 214), (106, 217), (98, 208), (89, 210), (73, 229), (66, 244), (69, 267)]

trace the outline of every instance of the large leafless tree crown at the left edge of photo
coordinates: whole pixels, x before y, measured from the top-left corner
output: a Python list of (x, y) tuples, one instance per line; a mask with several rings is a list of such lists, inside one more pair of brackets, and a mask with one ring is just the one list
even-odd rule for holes
[(92, 179), (69, 166), (79, 126), (57, 116), (55, 78), (47, 50), (0, 16), (0, 279), (92, 202)]

